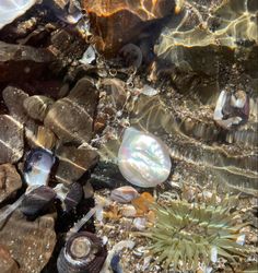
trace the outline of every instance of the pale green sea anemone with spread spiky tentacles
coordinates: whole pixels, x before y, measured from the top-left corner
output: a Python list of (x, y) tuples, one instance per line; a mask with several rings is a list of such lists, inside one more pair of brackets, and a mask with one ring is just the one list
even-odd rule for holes
[(241, 229), (248, 223), (237, 223), (237, 212), (231, 213), (235, 197), (226, 197), (215, 204), (215, 194), (206, 203), (169, 200), (169, 204), (154, 204), (155, 224), (143, 233), (152, 241), (150, 252), (164, 268), (177, 268), (179, 262), (197, 269), (199, 262), (209, 264), (212, 251), (231, 262), (245, 257), (246, 247), (236, 242)]

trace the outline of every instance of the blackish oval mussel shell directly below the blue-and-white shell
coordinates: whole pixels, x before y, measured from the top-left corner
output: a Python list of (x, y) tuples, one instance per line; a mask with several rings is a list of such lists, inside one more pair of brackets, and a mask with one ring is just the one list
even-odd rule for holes
[(56, 192), (51, 188), (40, 186), (25, 195), (20, 210), (26, 216), (38, 216), (50, 207), (55, 198)]

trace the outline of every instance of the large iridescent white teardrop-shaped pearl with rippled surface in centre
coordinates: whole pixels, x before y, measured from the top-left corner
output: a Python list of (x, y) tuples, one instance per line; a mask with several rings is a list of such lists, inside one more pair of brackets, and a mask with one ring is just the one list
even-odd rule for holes
[(167, 179), (172, 163), (167, 149), (160, 139), (128, 128), (118, 151), (118, 167), (130, 183), (149, 188)]

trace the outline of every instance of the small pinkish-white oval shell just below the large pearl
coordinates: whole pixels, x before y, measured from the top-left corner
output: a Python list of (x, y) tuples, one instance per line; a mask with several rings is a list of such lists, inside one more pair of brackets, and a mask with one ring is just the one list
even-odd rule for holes
[(129, 203), (139, 197), (139, 192), (131, 186), (124, 186), (112, 191), (110, 198), (120, 203)]

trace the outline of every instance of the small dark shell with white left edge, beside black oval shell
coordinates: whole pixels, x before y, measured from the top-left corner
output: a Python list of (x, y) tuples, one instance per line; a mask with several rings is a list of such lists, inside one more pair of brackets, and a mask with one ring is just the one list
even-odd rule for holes
[(57, 197), (62, 201), (66, 212), (75, 209), (83, 197), (83, 188), (80, 183), (73, 182), (71, 186), (59, 183), (55, 187)]

